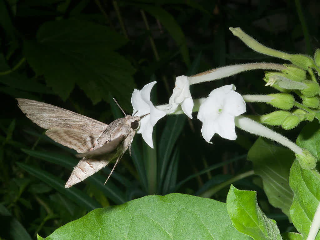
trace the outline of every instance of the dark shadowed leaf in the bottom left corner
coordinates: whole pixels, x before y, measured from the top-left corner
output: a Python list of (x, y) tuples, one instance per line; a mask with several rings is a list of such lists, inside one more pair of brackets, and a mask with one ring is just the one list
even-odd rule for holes
[(16, 218), (12, 217), (8, 209), (2, 204), (0, 204), (0, 226), (1, 229), (5, 229), (1, 234), (1, 237), (6, 237), (5, 239), (32, 239), (22, 224)]

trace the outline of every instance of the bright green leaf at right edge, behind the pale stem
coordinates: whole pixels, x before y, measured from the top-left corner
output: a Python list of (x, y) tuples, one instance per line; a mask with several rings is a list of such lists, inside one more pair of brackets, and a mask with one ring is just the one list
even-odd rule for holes
[[(293, 191), (293, 203), (290, 208), (292, 223), (306, 239), (320, 199), (320, 175), (315, 170), (305, 170), (298, 160), (292, 164), (290, 187)], [(320, 239), (318, 233), (316, 239)]]

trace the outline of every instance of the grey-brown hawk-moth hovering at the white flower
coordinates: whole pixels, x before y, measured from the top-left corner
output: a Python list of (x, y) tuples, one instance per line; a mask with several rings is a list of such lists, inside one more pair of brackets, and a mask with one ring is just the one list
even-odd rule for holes
[(124, 152), (130, 148), (133, 136), (140, 126), (140, 119), (146, 116), (124, 113), (125, 117), (105, 124), (51, 104), (22, 98), (17, 100), (21, 111), (32, 122), (48, 129), (45, 134), (49, 138), (75, 149), (78, 152), (76, 156), (82, 158), (66, 182), (66, 188), (83, 181), (116, 160), (113, 171)]

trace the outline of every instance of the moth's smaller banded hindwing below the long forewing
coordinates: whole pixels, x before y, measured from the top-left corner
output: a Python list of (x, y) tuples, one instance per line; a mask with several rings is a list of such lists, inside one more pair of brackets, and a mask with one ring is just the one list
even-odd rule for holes
[(45, 132), (52, 140), (75, 149), (78, 153), (86, 153), (97, 144), (99, 136), (74, 129), (53, 127)]

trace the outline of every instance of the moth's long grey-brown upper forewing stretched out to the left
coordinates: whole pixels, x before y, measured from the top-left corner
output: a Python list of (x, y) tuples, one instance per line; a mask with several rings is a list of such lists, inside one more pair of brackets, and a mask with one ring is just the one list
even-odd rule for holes
[(93, 118), (51, 104), (23, 98), (17, 98), (17, 100), (21, 111), (32, 122), (45, 129), (60, 127), (100, 135), (108, 126)]

